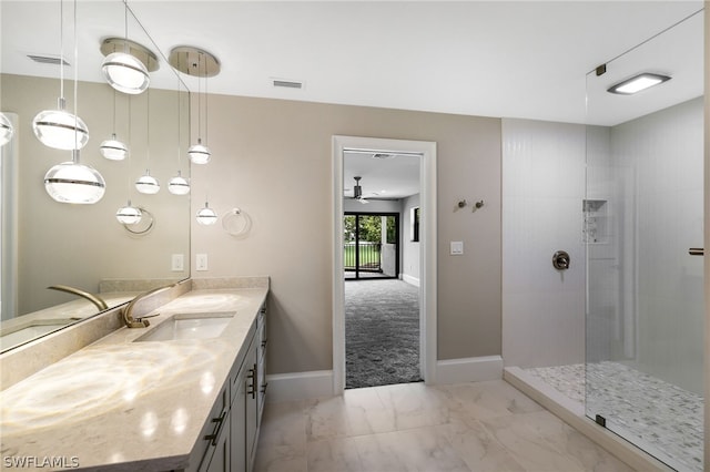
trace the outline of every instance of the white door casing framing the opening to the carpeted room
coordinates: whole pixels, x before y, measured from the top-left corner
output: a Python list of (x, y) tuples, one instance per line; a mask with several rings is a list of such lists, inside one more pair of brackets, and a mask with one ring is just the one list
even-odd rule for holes
[[(333, 137), (333, 391), (345, 389), (344, 161), (347, 152), (407, 155), (419, 166), (420, 229), (416, 274), (420, 378), (436, 381), (436, 143), (356, 136)], [(406, 264), (406, 263), (405, 263)], [(398, 276), (397, 276), (398, 277)], [(348, 281), (351, 283), (351, 281)], [(361, 284), (361, 283), (356, 283)]]

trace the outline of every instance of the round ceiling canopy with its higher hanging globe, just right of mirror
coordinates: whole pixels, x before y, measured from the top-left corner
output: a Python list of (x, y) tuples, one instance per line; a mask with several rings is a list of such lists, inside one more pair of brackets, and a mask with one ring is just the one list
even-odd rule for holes
[(213, 54), (193, 47), (179, 47), (170, 52), (168, 59), (175, 70), (197, 78), (197, 143), (190, 146), (187, 156), (193, 164), (206, 164), (212, 153), (206, 144), (202, 144), (202, 90), (201, 79), (205, 79), (205, 143), (207, 141), (207, 81), (206, 78), (220, 73), (220, 61)]

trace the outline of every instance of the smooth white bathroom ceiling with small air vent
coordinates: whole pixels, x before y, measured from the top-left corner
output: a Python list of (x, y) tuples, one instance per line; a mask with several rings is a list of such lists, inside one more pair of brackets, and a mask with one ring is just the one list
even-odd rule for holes
[[(57, 73), (26, 54), (59, 53), (58, 4), (0, 2), (2, 72)], [(64, 1), (65, 34), (71, 33), (72, 4)], [(123, 35), (121, 6), (119, 0), (79, 0), (80, 79), (102, 80), (99, 44), (102, 38)], [(207, 82), (210, 93), (612, 125), (703, 90), (701, 16), (688, 31), (633, 49), (701, 10), (698, 0), (129, 0), (129, 6), (164, 53), (187, 44), (221, 60), (221, 73)], [(149, 41), (133, 24), (129, 33)], [(71, 47), (65, 57), (72, 57)], [(592, 76), (589, 86), (601, 96), (594, 103), (604, 106), (590, 106), (588, 114), (586, 75), (605, 62), (607, 74)], [(658, 88), (661, 92), (632, 100), (605, 92), (647, 68), (673, 79)], [(175, 86), (169, 70), (163, 63), (154, 86)], [(71, 68), (67, 74), (73, 74)], [(196, 79), (183, 79), (197, 89)], [(273, 79), (303, 81), (304, 88), (277, 89)]]

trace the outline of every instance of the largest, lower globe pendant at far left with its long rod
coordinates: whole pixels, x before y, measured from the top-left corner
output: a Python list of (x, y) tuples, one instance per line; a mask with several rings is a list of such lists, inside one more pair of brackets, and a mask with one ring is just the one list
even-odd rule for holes
[[(74, 113), (79, 102), (79, 42), (77, 38), (77, 0), (74, 0)], [(74, 114), (74, 141), (79, 142), (79, 117)], [(106, 189), (106, 183), (99, 171), (79, 162), (79, 150), (72, 150), (71, 162), (50, 168), (44, 175), (44, 188), (57, 202), (93, 204), (99, 202)]]

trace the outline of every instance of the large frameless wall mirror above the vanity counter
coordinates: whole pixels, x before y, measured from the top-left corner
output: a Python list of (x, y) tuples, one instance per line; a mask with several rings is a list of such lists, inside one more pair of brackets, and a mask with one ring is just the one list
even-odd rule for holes
[[(190, 276), (190, 196), (168, 191), (179, 171), (190, 176), (190, 93), (122, 1), (3, 1), (0, 9), (0, 109), (16, 127), (11, 143), (1, 150), (0, 166), (0, 349), (7, 350), (103, 310), (87, 297), (50, 286), (80, 289), (112, 308), (145, 289)], [(124, 38), (126, 30), (131, 41), (159, 60), (150, 89), (140, 95), (114, 92), (101, 74), (102, 41)], [(77, 114), (89, 127), (81, 163), (105, 179), (105, 194), (93, 205), (61, 204), (48, 195), (44, 174), (71, 161), (71, 151), (44, 146), (32, 131), (40, 111), (58, 107), (62, 68), (51, 59), (61, 50), (69, 63), (63, 66), (67, 110), (74, 110), (77, 74)], [(99, 152), (114, 132), (129, 145), (124, 161), (109, 161)], [(155, 195), (134, 186), (146, 170), (160, 181)], [(124, 227), (115, 214), (129, 199), (146, 212), (141, 223)]]

